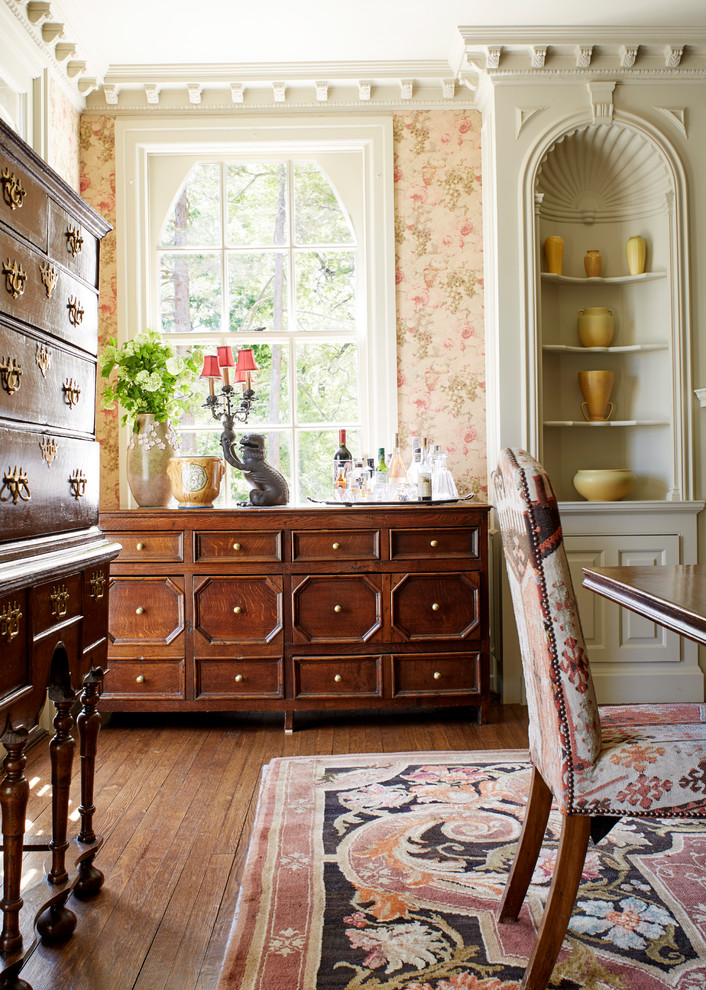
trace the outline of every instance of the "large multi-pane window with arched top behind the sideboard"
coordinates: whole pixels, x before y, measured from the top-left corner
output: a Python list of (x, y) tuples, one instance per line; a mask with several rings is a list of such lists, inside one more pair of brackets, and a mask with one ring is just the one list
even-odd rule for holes
[[(266, 436), (292, 502), (332, 497), (340, 428), (369, 456), (396, 429), (391, 142), (381, 147), (386, 126), (357, 129), (243, 123), (217, 141), (175, 142), (165, 124), (156, 146), (130, 125), (121, 135), (139, 162), (123, 188), (149, 259), (140, 284), (126, 254), (127, 312), (145, 314), (131, 330), (149, 326), (179, 350), (253, 348), (256, 400), (236, 427)], [(183, 453), (220, 452), (207, 408), (179, 432)], [(229, 469), (216, 504), (247, 493)]]

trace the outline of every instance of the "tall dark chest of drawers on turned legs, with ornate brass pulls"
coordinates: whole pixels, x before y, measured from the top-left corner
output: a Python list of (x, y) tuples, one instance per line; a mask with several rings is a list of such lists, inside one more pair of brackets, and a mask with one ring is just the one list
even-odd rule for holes
[[(102, 884), (93, 865), (93, 780), (107, 657), (108, 571), (119, 550), (98, 529), (95, 438), (98, 258), (110, 229), (0, 120), (0, 987), (36, 940), (67, 938), (73, 893)], [(25, 841), (25, 749), (47, 697), (52, 830)], [(73, 710), (81, 710), (74, 720)], [(80, 827), (68, 840), (77, 731)], [(22, 853), (48, 851), (47, 876), (20, 896)], [(25, 910), (21, 911), (23, 907)]]

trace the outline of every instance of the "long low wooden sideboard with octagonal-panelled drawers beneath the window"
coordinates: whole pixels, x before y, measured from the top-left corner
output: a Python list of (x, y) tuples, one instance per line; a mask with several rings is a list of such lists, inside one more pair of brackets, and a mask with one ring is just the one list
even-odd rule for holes
[(489, 701), (484, 504), (135, 509), (111, 567), (105, 711)]

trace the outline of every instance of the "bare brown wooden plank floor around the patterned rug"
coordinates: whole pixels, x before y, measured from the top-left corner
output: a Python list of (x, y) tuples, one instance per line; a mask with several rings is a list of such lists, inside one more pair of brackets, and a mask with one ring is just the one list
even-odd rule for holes
[[(113, 715), (101, 731), (96, 831), (105, 885), (61, 947), (22, 971), (34, 990), (213, 990), (252, 828), (260, 772), (276, 756), (525, 749), (526, 709), (298, 715)], [(76, 760), (78, 764), (78, 759)], [(51, 830), (48, 737), (28, 754), (28, 834)], [(77, 778), (72, 808), (79, 803)], [(39, 854), (26, 857), (29, 874)], [(34, 873), (35, 879), (37, 873)]]

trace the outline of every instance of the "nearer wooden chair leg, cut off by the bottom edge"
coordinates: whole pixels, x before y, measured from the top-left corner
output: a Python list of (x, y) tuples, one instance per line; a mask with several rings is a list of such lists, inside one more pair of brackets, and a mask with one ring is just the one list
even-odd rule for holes
[(549, 900), (520, 990), (547, 990), (576, 902), (590, 836), (590, 816), (564, 817)]

